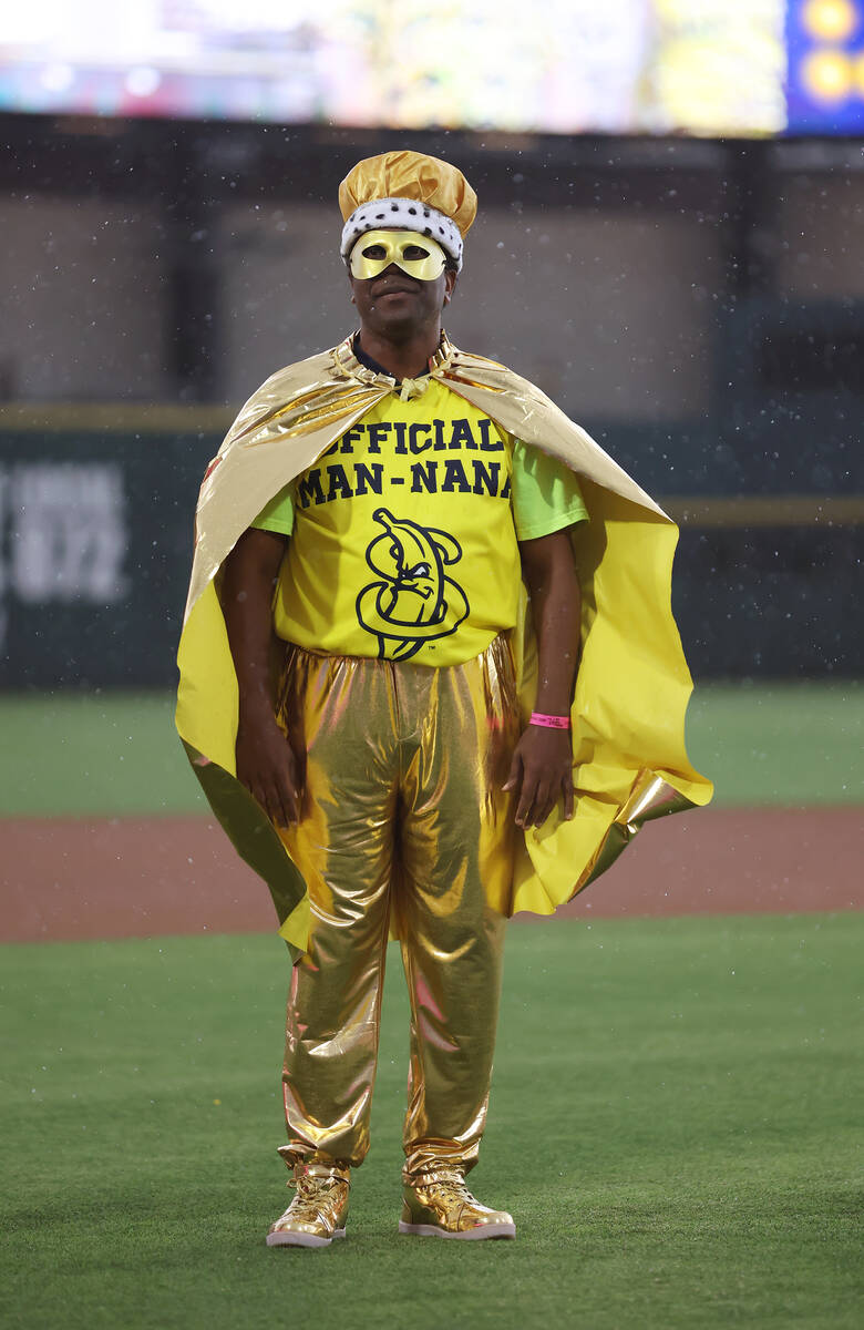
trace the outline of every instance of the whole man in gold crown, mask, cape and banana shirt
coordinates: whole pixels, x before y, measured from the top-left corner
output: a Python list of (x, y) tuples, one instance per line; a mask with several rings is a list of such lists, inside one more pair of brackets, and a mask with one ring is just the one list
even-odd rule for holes
[(400, 1232), (513, 1237), (465, 1185), (505, 920), (711, 797), (685, 750), (677, 529), (538, 388), (441, 331), (476, 213), (459, 170), (385, 153), (339, 202), (360, 330), (272, 375), (207, 468), (177, 724), (294, 956), (296, 1194), (267, 1244), (344, 1236), (388, 934), (412, 1011)]

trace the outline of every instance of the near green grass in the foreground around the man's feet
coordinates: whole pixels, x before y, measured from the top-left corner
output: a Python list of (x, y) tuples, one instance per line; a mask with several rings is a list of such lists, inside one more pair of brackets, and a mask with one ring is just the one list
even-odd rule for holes
[(348, 1240), (287, 1204), (270, 938), (3, 948), (0, 1322), (857, 1330), (864, 916), (512, 928), (477, 1192), (514, 1244), (400, 1238), (389, 952)]

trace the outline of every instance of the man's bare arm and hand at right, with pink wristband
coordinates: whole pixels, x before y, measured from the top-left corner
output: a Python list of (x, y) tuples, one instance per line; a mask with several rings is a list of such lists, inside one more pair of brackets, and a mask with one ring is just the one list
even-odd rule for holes
[[(580, 581), (568, 529), (520, 541), (522, 576), (530, 596), (537, 634), (537, 700), (534, 710), (569, 716), (580, 654)], [(573, 817), (573, 750), (570, 730), (529, 725), (513, 753), (505, 790), (517, 790), (516, 821), (542, 826), (556, 801)]]

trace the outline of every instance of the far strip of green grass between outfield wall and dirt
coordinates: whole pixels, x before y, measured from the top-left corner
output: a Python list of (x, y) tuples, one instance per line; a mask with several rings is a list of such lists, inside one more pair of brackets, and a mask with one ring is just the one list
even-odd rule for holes
[[(689, 745), (716, 805), (864, 802), (864, 686), (708, 685)], [(0, 814), (203, 813), (163, 693), (0, 694)]]

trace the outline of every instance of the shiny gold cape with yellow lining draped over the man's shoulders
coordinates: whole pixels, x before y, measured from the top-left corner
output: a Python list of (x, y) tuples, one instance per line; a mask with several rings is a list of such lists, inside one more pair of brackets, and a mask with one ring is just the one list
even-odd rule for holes
[[(671, 612), (678, 528), (602, 448), (526, 379), (444, 336), (431, 374), (502, 430), (580, 476), (590, 521), (573, 528), (582, 587), (582, 658), (573, 701), (576, 815), (556, 809), (520, 841), (510, 914), (552, 914), (603, 872), (649, 818), (706, 805), (690, 765), (693, 681)], [(279, 932), (296, 954), (308, 894), (282, 841), (235, 777), (238, 688), (217, 575), (265, 504), (393, 388), (340, 346), (290, 364), (249, 399), (210, 463), (179, 642), (177, 729), (217, 818), (267, 882)], [(513, 630), (520, 702), (530, 713), (536, 645), (522, 595)]]

